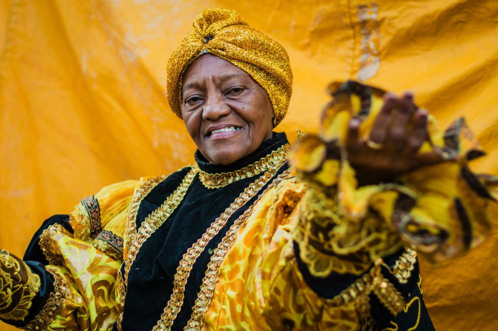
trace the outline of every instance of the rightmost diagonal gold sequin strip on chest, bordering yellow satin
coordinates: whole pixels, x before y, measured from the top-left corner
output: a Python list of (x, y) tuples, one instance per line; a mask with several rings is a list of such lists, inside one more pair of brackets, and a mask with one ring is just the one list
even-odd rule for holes
[(287, 178), (291, 173), (291, 169), (285, 170), (282, 174), (280, 174), (277, 178), (275, 178), (270, 185), (261, 193), (257, 200), (246, 210), (244, 213), (230, 226), (230, 230), (227, 232), (225, 237), (218, 244), (218, 247), (213, 251), (213, 255), (211, 256), (211, 261), (208, 263), (208, 268), (205, 272), (205, 276), (202, 280), (201, 290), (197, 295), (197, 299), (195, 300), (195, 305), (193, 307), (192, 314), (187, 325), (184, 327), (184, 330), (194, 331), (200, 330), (202, 322), (204, 320), (204, 316), (207, 311), (207, 306), (211, 302), (213, 298), (213, 292), (216, 285), (216, 281), (218, 280), (218, 276), (220, 274), (221, 264), (225, 260), (228, 252), (233, 246), (235, 239), (237, 238), (237, 233), (239, 229), (244, 225), (247, 218), (251, 214), (254, 206), (258, 203), (259, 200), (265, 195), (265, 193), (275, 187), (280, 181)]

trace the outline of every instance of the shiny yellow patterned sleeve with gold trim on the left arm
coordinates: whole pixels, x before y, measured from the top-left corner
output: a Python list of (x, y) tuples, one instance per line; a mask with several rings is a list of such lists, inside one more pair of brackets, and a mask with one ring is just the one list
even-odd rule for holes
[[(31, 330), (105, 330), (118, 317), (115, 284), (121, 261), (74, 237), (61, 225), (47, 228), (40, 245), (50, 262), (54, 290)], [(77, 258), (75, 258), (77, 257)]]

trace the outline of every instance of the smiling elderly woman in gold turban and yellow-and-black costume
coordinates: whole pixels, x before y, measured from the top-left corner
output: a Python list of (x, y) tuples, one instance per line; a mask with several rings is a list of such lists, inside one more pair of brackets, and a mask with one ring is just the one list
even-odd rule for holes
[[(273, 128), (291, 85), (281, 45), (234, 11), (202, 11), (169, 59), (167, 86), (196, 163), (84, 198), (44, 222), (23, 260), (2, 251), (2, 320), (25, 329), (433, 329), (416, 253), (403, 246), (442, 260), (479, 240), (492, 196), (464, 164), (476, 156), (462, 147), (464, 125), (443, 139), (409, 93), (382, 103), (379, 90), (349, 83), (335, 88), (321, 134), (289, 156)], [(358, 110), (346, 111), (352, 118), (344, 103)]]

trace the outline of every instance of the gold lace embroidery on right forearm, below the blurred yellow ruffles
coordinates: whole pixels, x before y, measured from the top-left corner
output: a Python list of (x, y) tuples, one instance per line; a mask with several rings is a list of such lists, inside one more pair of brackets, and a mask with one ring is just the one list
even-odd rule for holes
[(311, 274), (326, 276), (334, 271), (360, 275), (376, 256), (396, 252), (402, 242), (378, 215), (371, 213), (361, 221), (342, 215), (337, 201), (330, 198), (335, 193), (335, 188), (323, 190), (310, 185), (293, 238)]

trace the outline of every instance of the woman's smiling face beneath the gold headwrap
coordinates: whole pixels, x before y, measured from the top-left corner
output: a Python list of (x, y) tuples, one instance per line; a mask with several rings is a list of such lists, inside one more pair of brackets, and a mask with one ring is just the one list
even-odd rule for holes
[(268, 94), (244, 70), (203, 54), (183, 74), (182, 117), (200, 152), (213, 164), (230, 164), (272, 136)]

